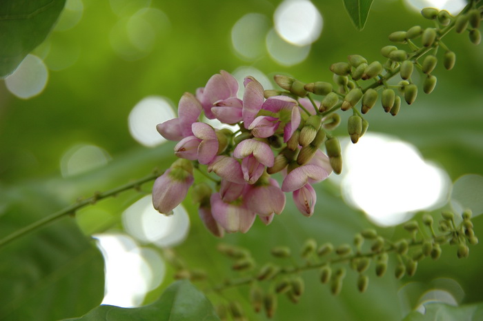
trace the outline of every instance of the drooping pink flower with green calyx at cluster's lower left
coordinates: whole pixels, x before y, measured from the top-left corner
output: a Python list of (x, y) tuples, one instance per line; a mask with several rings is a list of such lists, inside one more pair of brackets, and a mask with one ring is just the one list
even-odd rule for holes
[(186, 197), (188, 188), (193, 184), (193, 165), (186, 159), (178, 159), (152, 186), (152, 205), (165, 215)]

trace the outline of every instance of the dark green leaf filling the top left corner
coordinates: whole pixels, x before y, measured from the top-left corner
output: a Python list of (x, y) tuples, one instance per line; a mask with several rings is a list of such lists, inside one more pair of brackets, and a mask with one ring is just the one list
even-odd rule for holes
[(46, 39), (66, 0), (0, 1), (0, 77)]

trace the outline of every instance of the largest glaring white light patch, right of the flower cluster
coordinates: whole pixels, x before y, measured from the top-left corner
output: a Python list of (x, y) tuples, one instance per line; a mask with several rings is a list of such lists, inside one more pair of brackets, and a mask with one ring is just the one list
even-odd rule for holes
[(375, 224), (400, 224), (416, 211), (442, 206), (448, 200), (446, 172), (400, 139), (367, 133), (357, 144), (346, 142), (342, 157), (344, 198)]

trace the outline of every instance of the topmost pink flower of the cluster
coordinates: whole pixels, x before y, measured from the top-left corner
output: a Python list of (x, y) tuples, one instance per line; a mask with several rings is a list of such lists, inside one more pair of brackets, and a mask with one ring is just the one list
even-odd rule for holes
[[(215, 118), (215, 114), (211, 108), (215, 104), (219, 106), (233, 106), (230, 99), (237, 97), (238, 81), (225, 70), (221, 70), (219, 74), (213, 75), (204, 88), (197, 90), (196, 96), (201, 101), (205, 115), (208, 119)], [(224, 103), (223, 101), (229, 102)]]

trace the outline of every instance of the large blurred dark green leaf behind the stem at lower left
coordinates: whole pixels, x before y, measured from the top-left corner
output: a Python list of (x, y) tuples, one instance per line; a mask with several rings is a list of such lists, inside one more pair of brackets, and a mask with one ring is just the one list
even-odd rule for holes
[[(63, 207), (26, 187), (0, 186), (0, 204), (1, 237)], [(101, 253), (70, 217), (14, 240), (0, 248), (0, 320), (82, 315), (103, 298), (103, 270)]]

